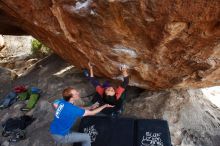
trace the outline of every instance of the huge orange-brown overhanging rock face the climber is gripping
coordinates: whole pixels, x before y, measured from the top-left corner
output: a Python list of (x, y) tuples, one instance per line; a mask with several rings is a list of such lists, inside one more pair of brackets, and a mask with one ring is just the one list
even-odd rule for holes
[(78, 68), (146, 89), (220, 84), (220, 1), (1, 0), (17, 26)]

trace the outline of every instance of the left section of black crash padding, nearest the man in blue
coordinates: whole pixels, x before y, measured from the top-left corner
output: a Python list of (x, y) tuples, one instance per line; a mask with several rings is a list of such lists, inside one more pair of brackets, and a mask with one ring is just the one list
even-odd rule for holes
[(92, 146), (133, 146), (134, 120), (107, 116), (84, 117), (79, 132), (89, 133)]

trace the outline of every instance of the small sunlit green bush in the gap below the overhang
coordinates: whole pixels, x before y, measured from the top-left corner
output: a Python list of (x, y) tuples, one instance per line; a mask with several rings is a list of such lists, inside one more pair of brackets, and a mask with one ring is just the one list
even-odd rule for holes
[(52, 53), (51, 49), (34, 39), (31, 42), (31, 52), (35, 57), (44, 57)]

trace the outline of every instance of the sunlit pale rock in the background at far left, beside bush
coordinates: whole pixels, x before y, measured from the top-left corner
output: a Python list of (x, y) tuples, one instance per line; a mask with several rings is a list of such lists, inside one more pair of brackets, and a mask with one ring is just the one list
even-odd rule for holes
[[(38, 59), (32, 55), (31, 36), (0, 36), (0, 67), (12, 70), (20, 76)], [(1, 74), (0, 74), (1, 75)]]

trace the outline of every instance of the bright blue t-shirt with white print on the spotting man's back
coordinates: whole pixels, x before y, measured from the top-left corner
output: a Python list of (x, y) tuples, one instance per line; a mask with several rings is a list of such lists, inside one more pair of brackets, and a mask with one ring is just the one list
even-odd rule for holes
[(82, 117), (84, 113), (84, 109), (61, 100), (56, 109), (54, 120), (50, 125), (50, 133), (65, 136), (69, 133), (77, 118)]

